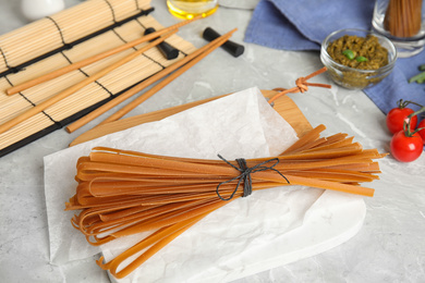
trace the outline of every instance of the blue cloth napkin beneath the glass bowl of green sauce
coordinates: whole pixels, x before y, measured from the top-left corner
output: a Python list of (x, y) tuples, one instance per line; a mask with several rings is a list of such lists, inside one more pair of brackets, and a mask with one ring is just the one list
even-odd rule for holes
[[(371, 0), (260, 0), (245, 33), (244, 41), (274, 49), (320, 50), (321, 41), (341, 28), (372, 28), (375, 1)], [(400, 99), (425, 106), (425, 84), (409, 84), (425, 64), (425, 51), (399, 58), (393, 72), (364, 93), (384, 112)], [(411, 104), (412, 106), (412, 104)], [(412, 109), (418, 110), (412, 106)]]

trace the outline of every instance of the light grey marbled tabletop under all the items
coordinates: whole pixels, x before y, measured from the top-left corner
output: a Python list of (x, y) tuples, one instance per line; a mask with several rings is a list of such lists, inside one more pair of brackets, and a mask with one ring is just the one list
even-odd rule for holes
[[(65, 1), (66, 7), (80, 1)], [(238, 2), (238, 1), (229, 1)], [(17, 0), (0, 0), (0, 34), (25, 24)], [(178, 22), (165, 1), (153, 1), (154, 16), (168, 26)], [(232, 3), (234, 4), (234, 3)], [(210, 17), (183, 27), (179, 35), (195, 46), (205, 44), (207, 26), (219, 33), (234, 27), (232, 40), (243, 42), (252, 11), (220, 8)], [(292, 87), (300, 76), (321, 67), (317, 52), (290, 52), (245, 45), (234, 59), (219, 49), (168, 85), (129, 115), (242, 90)], [(330, 83), (325, 75), (312, 82)], [(344, 132), (365, 148), (389, 150), (385, 115), (362, 93), (332, 85), (290, 95), (313, 126), (325, 124), (325, 134)], [(49, 264), (42, 157), (61, 150), (104, 116), (68, 134), (57, 131), (0, 158), (0, 281), (1, 282), (109, 282), (93, 259), (65, 267)], [(364, 226), (351, 241), (320, 255), (265, 271), (238, 282), (424, 282), (425, 281), (425, 155), (412, 163), (391, 157), (380, 161), (380, 180), (367, 198)]]

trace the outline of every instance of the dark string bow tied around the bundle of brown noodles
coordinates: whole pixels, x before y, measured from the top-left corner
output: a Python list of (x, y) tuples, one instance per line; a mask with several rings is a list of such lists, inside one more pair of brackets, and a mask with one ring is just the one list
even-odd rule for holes
[[(251, 174), (253, 173), (256, 173), (256, 172), (260, 172), (260, 171), (266, 171), (266, 170), (272, 170), (275, 172), (277, 172), (279, 175), (281, 175), (287, 182), (288, 184), (290, 184), (289, 180), (282, 174), (280, 173), (279, 170), (275, 169), (275, 167), (279, 163), (279, 159), (278, 158), (272, 158), (272, 159), (269, 159), (269, 160), (266, 160), (262, 163), (258, 163), (252, 168), (248, 168), (246, 165), (246, 160), (243, 159), (243, 158), (239, 158), (239, 159), (235, 159), (235, 161), (238, 162), (238, 167), (233, 165), (232, 163), (230, 163), (228, 160), (226, 160), (223, 157), (221, 157), (220, 155), (218, 155), (218, 157), (224, 161), (226, 163), (228, 163), (230, 167), (234, 168), (235, 170), (238, 170), (239, 172), (241, 172), (241, 174), (239, 174), (238, 176), (235, 177), (232, 177), (228, 181), (224, 181), (224, 182), (221, 182), (220, 184), (218, 184), (217, 188), (216, 188), (216, 193), (217, 193), (217, 196), (221, 199), (221, 200), (230, 200), (233, 198), (234, 194), (236, 194), (241, 183), (243, 182), (243, 195), (242, 197), (247, 197), (250, 196), (252, 193), (253, 193), (253, 181), (252, 181), (252, 177), (251, 177)], [(266, 164), (269, 164), (271, 163), (271, 165), (266, 165)], [(232, 194), (230, 195), (230, 197), (228, 198), (224, 198), (220, 195), (220, 186), (221, 185), (224, 185), (224, 184), (228, 184), (230, 182), (233, 182), (238, 180), (238, 184), (235, 186), (235, 188), (233, 189)]]

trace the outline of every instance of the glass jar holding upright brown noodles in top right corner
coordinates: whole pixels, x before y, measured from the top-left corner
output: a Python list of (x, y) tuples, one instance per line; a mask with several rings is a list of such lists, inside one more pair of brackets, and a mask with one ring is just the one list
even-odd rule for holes
[(400, 58), (417, 54), (425, 46), (423, 0), (376, 0), (372, 26), (388, 37)]

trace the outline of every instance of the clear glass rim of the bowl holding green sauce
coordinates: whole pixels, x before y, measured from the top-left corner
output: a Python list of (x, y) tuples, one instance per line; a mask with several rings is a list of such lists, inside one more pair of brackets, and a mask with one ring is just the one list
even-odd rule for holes
[[(377, 38), (386, 41), (390, 47), (391, 47), (391, 51), (393, 51), (394, 56), (393, 56), (393, 59), (391, 62), (388, 62), (388, 64), (379, 67), (379, 69), (376, 69), (376, 70), (371, 70), (371, 69), (355, 69), (355, 67), (351, 67), (351, 66), (347, 66), (347, 65), (343, 65), (343, 64), (340, 64), (338, 62), (336, 62), (328, 53), (328, 51), (326, 50), (325, 46), (327, 44), (327, 41), (329, 41), (329, 38), (335, 36), (336, 34), (339, 34), (339, 33), (347, 33), (347, 32), (357, 32), (357, 33), (365, 33), (365, 34), (368, 34), (368, 35), (374, 35), (376, 36)], [(335, 30), (332, 33), (330, 33), (323, 41), (321, 41), (321, 46), (320, 46), (320, 53), (323, 53), (326, 59), (330, 60), (332, 64), (337, 65), (339, 69), (342, 69), (344, 71), (351, 71), (351, 72), (361, 72), (361, 73), (365, 73), (365, 74), (372, 74), (372, 73), (385, 73), (385, 72), (388, 72), (389, 70), (391, 70), (393, 67), (393, 65), (396, 64), (396, 61), (397, 59), (399, 58), (398, 56), (398, 52), (397, 52), (397, 48), (394, 46), (394, 44), (392, 44), (392, 41), (386, 37), (386, 36), (382, 36), (382, 35), (379, 35), (373, 30), (367, 30), (367, 29), (361, 29), (361, 28), (342, 28), (342, 29), (338, 29), (338, 30)]]

